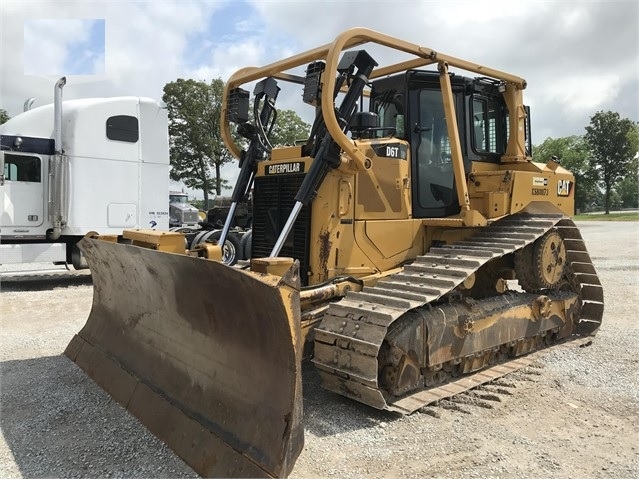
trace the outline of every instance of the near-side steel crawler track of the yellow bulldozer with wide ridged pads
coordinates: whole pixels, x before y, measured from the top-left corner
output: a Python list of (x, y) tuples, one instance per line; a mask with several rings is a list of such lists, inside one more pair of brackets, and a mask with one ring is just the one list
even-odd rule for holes
[(576, 333), (594, 335), (603, 317), (603, 288), (578, 228), (562, 215), (519, 213), (466, 240), (433, 247), (401, 272), (331, 303), (315, 329), (313, 362), (323, 386), (373, 407), (406, 414), (530, 364), (531, 355), (517, 357), (390, 403), (378, 384), (378, 355), (393, 322), (411, 309), (442, 299), (489, 261), (532, 244), (552, 228), (564, 240), (569, 280), (582, 303)]

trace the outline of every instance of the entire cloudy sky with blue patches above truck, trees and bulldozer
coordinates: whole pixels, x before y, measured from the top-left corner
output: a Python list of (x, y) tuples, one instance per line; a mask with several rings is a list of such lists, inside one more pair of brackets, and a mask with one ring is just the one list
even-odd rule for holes
[[(639, 120), (639, 0), (0, 0), (0, 109), (226, 80), (366, 27), (527, 80), (533, 144)], [(294, 108), (292, 98), (278, 107)], [(311, 113), (298, 111), (310, 121)]]

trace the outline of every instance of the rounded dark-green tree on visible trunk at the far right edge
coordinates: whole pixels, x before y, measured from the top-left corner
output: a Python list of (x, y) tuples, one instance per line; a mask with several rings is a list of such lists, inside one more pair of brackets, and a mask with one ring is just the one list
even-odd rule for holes
[(619, 113), (599, 111), (590, 118), (586, 127), (586, 142), (590, 148), (591, 163), (598, 173), (598, 183), (604, 190), (604, 207), (610, 213), (614, 187), (628, 173), (628, 167), (637, 154), (639, 139), (637, 124)]

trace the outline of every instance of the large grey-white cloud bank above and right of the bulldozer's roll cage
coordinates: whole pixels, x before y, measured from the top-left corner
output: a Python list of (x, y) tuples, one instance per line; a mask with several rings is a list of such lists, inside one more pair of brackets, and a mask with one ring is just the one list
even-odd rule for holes
[[(264, 28), (290, 35), (300, 49), (366, 26), (522, 76), (539, 143), (545, 135), (583, 133), (593, 108), (639, 119), (636, 1), (351, 0), (339, 2), (339, 15), (331, 1), (253, 5)], [(322, 28), (309, 27), (309, 12)]]

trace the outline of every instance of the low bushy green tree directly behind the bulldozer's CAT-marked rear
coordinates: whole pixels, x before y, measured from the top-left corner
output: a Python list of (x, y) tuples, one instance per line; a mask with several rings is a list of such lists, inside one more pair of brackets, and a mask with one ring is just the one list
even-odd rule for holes
[(545, 163), (553, 156), (575, 175), (575, 210), (591, 211), (603, 204), (602, 194), (597, 187), (597, 178), (590, 164), (590, 150), (583, 136), (547, 138), (533, 148), (535, 160)]

